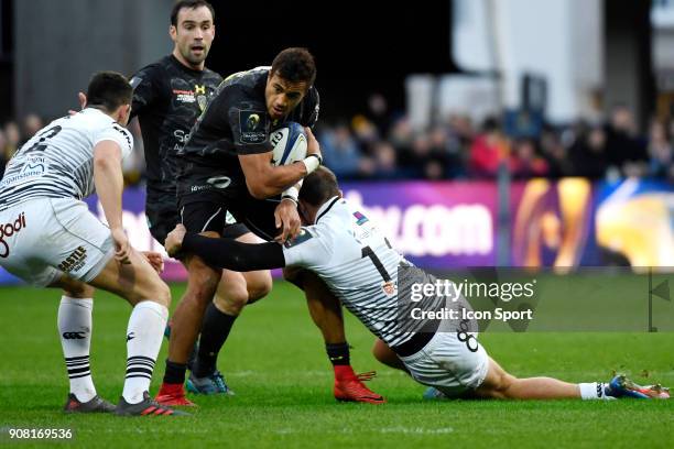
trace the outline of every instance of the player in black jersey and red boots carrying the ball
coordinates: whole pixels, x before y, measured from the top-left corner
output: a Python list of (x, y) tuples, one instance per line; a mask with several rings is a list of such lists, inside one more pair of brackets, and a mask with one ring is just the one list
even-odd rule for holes
[[(192, 232), (219, 237), (230, 212), (248, 229), (267, 240), (285, 241), (300, 230), (297, 183), (320, 164), (318, 142), (309, 127), (318, 114), (318, 94), (313, 56), (304, 48), (286, 48), (271, 67), (235, 74), (216, 89), (181, 149), (177, 182), (178, 210)], [(269, 134), (286, 121), (305, 127), (308, 155), (291, 165), (273, 166)], [(283, 194), (283, 195), (282, 195)], [(164, 383), (156, 396), (161, 404), (184, 405), (183, 382), (189, 351), (199, 331), (220, 270), (198, 256), (185, 254), (189, 273), (185, 296), (174, 311)], [(320, 328), (335, 365), (335, 396), (344, 401), (381, 403), (349, 363), (339, 302), (317, 278), (306, 275), (301, 283), (309, 298), (309, 311)], [(233, 318), (220, 320), (225, 337)], [(204, 329), (195, 363), (198, 375), (215, 371), (214, 354), (225, 339), (206, 341)], [(209, 347), (208, 350), (205, 348)], [(204, 360), (210, 355), (211, 360)], [(194, 381), (194, 376), (191, 376)]]

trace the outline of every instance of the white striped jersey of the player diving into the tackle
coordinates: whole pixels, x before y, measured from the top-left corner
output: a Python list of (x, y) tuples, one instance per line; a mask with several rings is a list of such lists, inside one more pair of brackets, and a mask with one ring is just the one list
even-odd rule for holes
[[(399, 304), (398, 292), (411, 283), (428, 282), (428, 275), (414, 267), (391, 248), (383, 233), (365, 213), (344, 198), (334, 197), (318, 210), (316, 223), (283, 248), (285, 265), (315, 272), (370, 331), (390, 347), (404, 343), (422, 330), (424, 321), (409, 317), (409, 308), (435, 307), (435, 298), (413, 305)], [(399, 267), (405, 278), (399, 280)], [(433, 304), (427, 304), (431, 302)]]

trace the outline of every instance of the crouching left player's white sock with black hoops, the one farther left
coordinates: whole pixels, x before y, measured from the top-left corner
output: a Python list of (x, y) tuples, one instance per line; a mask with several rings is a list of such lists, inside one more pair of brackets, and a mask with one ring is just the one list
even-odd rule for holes
[(89, 366), (93, 308), (91, 298), (76, 299), (65, 295), (61, 297), (58, 306), (58, 335), (70, 380), (70, 393), (83, 403), (96, 396)]

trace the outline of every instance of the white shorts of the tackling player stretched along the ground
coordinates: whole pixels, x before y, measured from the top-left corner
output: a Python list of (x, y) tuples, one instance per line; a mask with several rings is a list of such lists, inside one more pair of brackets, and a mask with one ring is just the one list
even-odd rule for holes
[(436, 332), (424, 349), (400, 360), (416, 382), (449, 397), (476, 390), (489, 370), (489, 357), (476, 333)]

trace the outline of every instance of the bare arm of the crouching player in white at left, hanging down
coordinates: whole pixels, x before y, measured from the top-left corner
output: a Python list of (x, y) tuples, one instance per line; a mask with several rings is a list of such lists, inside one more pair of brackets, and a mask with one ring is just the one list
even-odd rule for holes
[(124, 187), (121, 169), (121, 149), (111, 140), (94, 146), (94, 184), (115, 240), (115, 258), (129, 262), (129, 240), (122, 228), (121, 196)]

